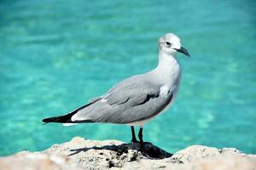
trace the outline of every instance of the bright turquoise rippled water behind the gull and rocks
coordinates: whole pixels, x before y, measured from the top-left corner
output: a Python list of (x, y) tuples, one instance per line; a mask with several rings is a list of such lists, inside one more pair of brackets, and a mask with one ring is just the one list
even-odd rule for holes
[(181, 88), (144, 138), (256, 154), (255, 1), (1, 1), (0, 155), (81, 136), (129, 142), (130, 127), (43, 125), (157, 64), (157, 41), (182, 38)]

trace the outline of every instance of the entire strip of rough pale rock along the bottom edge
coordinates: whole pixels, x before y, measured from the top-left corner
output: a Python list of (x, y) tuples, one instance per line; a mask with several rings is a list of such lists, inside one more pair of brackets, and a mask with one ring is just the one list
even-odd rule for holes
[(125, 144), (117, 140), (87, 140), (76, 137), (54, 144), (42, 152), (22, 151), (0, 158), (3, 169), (170, 169), (256, 170), (256, 156), (232, 148), (192, 145), (175, 154), (153, 144)]

